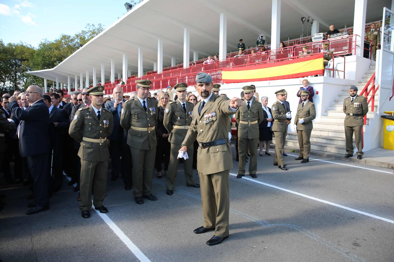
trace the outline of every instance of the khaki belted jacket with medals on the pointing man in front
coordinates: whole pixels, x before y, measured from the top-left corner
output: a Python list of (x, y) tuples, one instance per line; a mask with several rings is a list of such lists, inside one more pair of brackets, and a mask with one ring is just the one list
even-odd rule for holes
[[(230, 110), (231, 100), (224, 95), (212, 93), (198, 113), (201, 101), (193, 108), (193, 119), (182, 145), (190, 147), (197, 142), (210, 142), (219, 139), (229, 139), (229, 116), (235, 114)], [(205, 117), (204, 117), (205, 116)], [(210, 120), (212, 117), (212, 120)], [(208, 119), (208, 121), (205, 121)], [(205, 123), (207, 122), (207, 123)], [(230, 143), (208, 148), (198, 148), (197, 169), (203, 174), (214, 174), (232, 168), (232, 154)]]

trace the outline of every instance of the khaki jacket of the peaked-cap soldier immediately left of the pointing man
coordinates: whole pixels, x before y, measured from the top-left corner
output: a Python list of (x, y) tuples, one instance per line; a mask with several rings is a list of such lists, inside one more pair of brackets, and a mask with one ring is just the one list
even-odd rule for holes
[(164, 110), (164, 127), (170, 133), (168, 141), (175, 145), (182, 145), (188, 129), (173, 128), (174, 126), (190, 126), (193, 118), (193, 103), (186, 101), (186, 113), (182, 104), (177, 101), (169, 102)]

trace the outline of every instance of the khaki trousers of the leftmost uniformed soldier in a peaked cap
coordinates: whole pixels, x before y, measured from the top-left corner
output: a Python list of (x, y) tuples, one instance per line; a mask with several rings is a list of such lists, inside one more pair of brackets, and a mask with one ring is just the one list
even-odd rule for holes
[(80, 195), (81, 202), (79, 209), (89, 210), (92, 207), (92, 185), (93, 178), (95, 183), (95, 192), (93, 194), (93, 205), (101, 207), (107, 190), (107, 170), (108, 161), (93, 162), (81, 159), (81, 178), (80, 178)]

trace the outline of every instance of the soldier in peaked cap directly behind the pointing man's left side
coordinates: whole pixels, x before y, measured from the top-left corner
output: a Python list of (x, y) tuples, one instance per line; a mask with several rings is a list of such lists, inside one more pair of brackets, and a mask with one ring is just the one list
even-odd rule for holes
[[(179, 147), (185, 139), (186, 133), (190, 128), (191, 119), (193, 117), (193, 103), (186, 101), (186, 89), (188, 84), (178, 83), (174, 86), (177, 91), (177, 101), (172, 101), (167, 104), (164, 114), (164, 126), (170, 133), (168, 141), (171, 143), (170, 162), (168, 165), (167, 176), (165, 184), (167, 186), (167, 195), (173, 194), (175, 181), (177, 180), (178, 172), (178, 151)], [(184, 159), (184, 172), (186, 178), (186, 186), (200, 187), (199, 184), (193, 180), (193, 144), (188, 147), (188, 159)]]

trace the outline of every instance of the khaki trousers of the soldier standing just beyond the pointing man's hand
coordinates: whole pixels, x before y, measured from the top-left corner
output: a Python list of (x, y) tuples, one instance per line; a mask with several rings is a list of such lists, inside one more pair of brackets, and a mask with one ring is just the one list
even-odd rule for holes
[(249, 146), (250, 158), (249, 158), (249, 175), (256, 174), (257, 171), (257, 144), (258, 138), (242, 138), (238, 137), (238, 155), (239, 155), (239, 167), (238, 174), (245, 174), (246, 166), (246, 154)]

